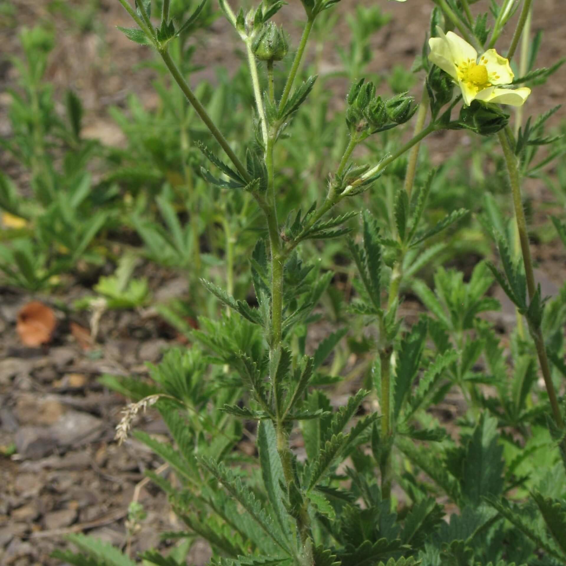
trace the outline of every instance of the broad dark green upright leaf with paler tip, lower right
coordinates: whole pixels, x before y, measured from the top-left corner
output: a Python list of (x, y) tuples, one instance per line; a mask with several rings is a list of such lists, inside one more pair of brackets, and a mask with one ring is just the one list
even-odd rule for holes
[(479, 505), (487, 496), (503, 491), (503, 447), (499, 445), (498, 421), (482, 413), (462, 464), (462, 495)]

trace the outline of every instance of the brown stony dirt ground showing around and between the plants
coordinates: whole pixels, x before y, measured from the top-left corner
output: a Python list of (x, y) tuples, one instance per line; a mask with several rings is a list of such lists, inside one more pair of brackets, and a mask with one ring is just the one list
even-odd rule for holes
[[(19, 53), (16, 41), (19, 25), (51, 22), (58, 31), (58, 43), (50, 59), (48, 79), (61, 92), (72, 87), (79, 93), (85, 106), (84, 135), (100, 138), (107, 144), (123, 143), (122, 133), (106, 108), (123, 106), (130, 92), (136, 92), (148, 108), (155, 107), (157, 97), (151, 86), (152, 71), (133, 70), (136, 63), (150, 56), (148, 48), (133, 44), (115, 29), (116, 25), (130, 25), (117, 0), (101, 0), (100, 11), (93, 14), (93, 31), (87, 33), (77, 32), (76, 26), (65, 18), (55, 17), (48, 9), (53, 2), (13, 2), (15, 21), (0, 19), (3, 55)], [(338, 9), (345, 12), (357, 3), (343, 0)], [(294, 19), (299, 18), (302, 8), (298, 0), (289, 0), (289, 4), (284, 11), (286, 29), (296, 38), (300, 29), (294, 25)], [(78, 6), (79, 2), (74, 5)], [(372, 70), (390, 68), (396, 63), (410, 66), (421, 49), (422, 22), (428, 20), (430, 6), (428, 0), (391, 2), (385, 6), (393, 14), (393, 20), (372, 39), (376, 54)], [(548, 66), (566, 54), (563, 0), (538, 0), (535, 6), (533, 27), (542, 29), (546, 37), (539, 64)], [(345, 36), (340, 30), (336, 33), (336, 37)], [(510, 36), (508, 32), (502, 44)], [(202, 42), (206, 49), (197, 51), (196, 62), (203, 65), (230, 62), (231, 49), (225, 45), (232, 45), (234, 38), (223, 20), (217, 20)], [(339, 68), (333, 45), (327, 45), (326, 53), (325, 68), (328, 71)], [(206, 73), (200, 71), (193, 77), (194, 82)], [(12, 86), (15, 78), (10, 63), (0, 62), (0, 85)], [(536, 100), (533, 96), (529, 104), (544, 109), (559, 104), (564, 100), (565, 85), (566, 67), (563, 67), (551, 83), (537, 89)], [(336, 84), (337, 101), (343, 100), (344, 89), (345, 85)], [(0, 135), (10, 134), (6, 120), (9, 101), (5, 89), (0, 88)], [(566, 116), (564, 112), (561, 110), (556, 115), (555, 123)], [(460, 132), (437, 135), (430, 142), (433, 159), (441, 161), (453, 151), (454, 144), (465, 143)], [(25, 182), (6, 156), (0, 156), (0, 166), (13, 178)], [(537, 183), (530, 183), (526, 190), (535, 199), (545, 198), (543, 188)], [(564, 273), (563, 252), (554, 248), (550, 252), (534, 251), (541, 262), (539, 275), (548, 291), (555, 291)], [(182, 276), (153, 269), (155, 295), (173, 298), (186, 293)], [(159, 544), (161, 532), (179, 529), (181, 525), (169, 511), (165, 496), (151, 483), (140, 484), (145, 469), (160, 466), (158, 458), (133, 439), (120, 448), (114, 443), (114, 426), (125, 401), (102, 388), (97, 377), (104, 373), (147, 375), (144, 362), (157, 362), (162, 349), (179, 343), (178, 336), (152, 311), (110, 313), (102, 319), (100, 335), (104, 340), (93, 348), (85, 349), (70, 332), (71, 322), (88, 327), (88, 320), (80, 316), (61, 319), (58, 334), (49, 348), (24, 348), (15, 332), (16, 315), (30, 299), (29, 295), (13, 289), (0, 288), (0, 447), (15, 443), (18, 449), (15, 456), (0, 456), (0, 564), (58, 564), (49, 554), (53, 548), (65, 546), (66, 533), (89, 533), (125, 547), (125, 517), (134, 497), (148, 512), (132, 540), (132, 556), (135, 556), (136, 552)], [(410, 314), (416, 306), (409, 303), (405, 308)], [(503, 323), (506, 321), (509, 322), (507, 319)], [(463, 409), (458, 400), (448, 402), (443, 408), (445, 418), (454, 418)], [(154, 434), (166, 432), (162, 421), (151, 412), (139, 419), (138, 427)], [(198, 544), (190, 563), (203, 564), (208, 556), (205, 544)]]

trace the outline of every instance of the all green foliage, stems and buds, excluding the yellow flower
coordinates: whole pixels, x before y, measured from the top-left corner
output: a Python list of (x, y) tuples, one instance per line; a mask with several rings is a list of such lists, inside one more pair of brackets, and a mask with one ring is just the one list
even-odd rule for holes
[[(191, 347), (149, 365), (151, 380), (101, 378), (132, 400), (121, 441), (149, 405), (167, 424), (170, 441), (131, 434), (167, 465), (147, 475), (184, 528), (139, 557), (84, 535), (70, 537), (77, 552), (55, 556), (179, 566), (200, 538), (215, 566), (566, 564), (566, 287), (542, 296), (521, 195), (522, 179), (539, 178), (566, 203), (564, 165), (549, 169), (564, 154), (562, 136), (546, 133), (556, 109), (525, 119), (520, 107), (512, 119), (496, 104), (464, 105), (428, 41), (411, 72), (369, 76), (368, 42), (389, 21), (375, 6), (302, 0), (293, 46), (273, 20), (281, 0), (247, 11), (227, 0), (220, 11), (119, 2), (135, 23), (121, 31), (157, 55), (160, 108), (132, 95), (110, 110), (126, 148), (84, 140), (78, 98), (67, 94), (59, 118), (43, 80), (53, 36), (22, 33), (3, 144), (31, 181), (24, 195), (0, 177), (0, 208), (20, 220), (0, 244), (0, 269), (11, 285), (45, 290), (85, 265), (117, 265), (77, 308), (151, 301), (134, 276), (139, 256), (187, 274), (192, 301), (159, 308)], [(520, 50), (507, 86), (529, 85), (531, 100), (562, 63), (536, 67), (536, 2), (492, 0), (475, 16), (474, 0), (430, 4), (423, 37), (454, 31), (479, 53), (516, 21), (500, 52)], [(338, 52), (336, 75), (349, 85), (339, 110), (326, 88), (336, 75), (320, 59), (336, 10), (351, 31)], [(242, 65), (192, 89), (195, 37), (220, 14)], [(303, 73), (310, 41), (317, 55)], [(417, 101), (408, 91), (418, 78)], [(456, 152), (431, 167), (425, 140), (441, 130), (467, 130), (467, 161)], [(566, 246), (562, 217), (538, 230)], [(135, 250), (121, 239), (130, 233)], [(130, 254), (118, 260), (116, 246)], [(462, 263), (472, 254), (481, 260)], [(494, 322), (495, 285), (516, 308), (510, 337)], [(409, 294), (421, 314), (404, 310)], [(336, 406), (350, 381), (357, 392)], [(454, 393), (465, 411), (447, 423), (441, 410)], [(242, 451), (243, 436), (255, 454)], [(143, 521), (131, 507), (128, 541)]]

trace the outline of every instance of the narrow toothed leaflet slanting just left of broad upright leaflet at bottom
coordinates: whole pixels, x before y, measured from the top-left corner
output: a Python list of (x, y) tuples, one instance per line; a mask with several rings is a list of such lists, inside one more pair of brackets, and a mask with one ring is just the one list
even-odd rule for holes
[(200, 462), (204, 468), (222, 483), (226, 491), (242, 505), (261, 530), (263, 530), (286, 555), (291, 555), (289, 541), (285, 539), (285, 535), (281, 533), (281, 530), (273, 524), (273, 521), (265, 512), (265, 509), (261, 507), (261, 504), (255, 498), (254, 492), (250, 487), (243, 485), (241, 478), (234, 475), (234, 473), (223, 464), (217, 464), (217, 462), (206, 458), (200, 458)]

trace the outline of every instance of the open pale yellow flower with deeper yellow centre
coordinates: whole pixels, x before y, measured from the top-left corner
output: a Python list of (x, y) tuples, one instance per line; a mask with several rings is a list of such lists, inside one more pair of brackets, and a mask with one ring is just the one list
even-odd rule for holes
[(428, 40), (428, 59), (446, 71), (462, 91), (464, 104), (473, 100), (522, 106), (530, 95), (530, 88), (498, 88), (500, 84), (513, 82), (509, 59), (501, 57), (495, 49), (488, 49), (478, 58), (478, 52), (456, 33), (438, 29), (440, 37)]

